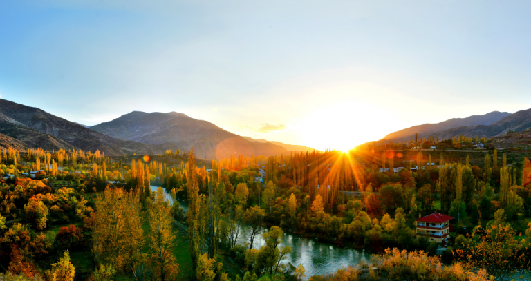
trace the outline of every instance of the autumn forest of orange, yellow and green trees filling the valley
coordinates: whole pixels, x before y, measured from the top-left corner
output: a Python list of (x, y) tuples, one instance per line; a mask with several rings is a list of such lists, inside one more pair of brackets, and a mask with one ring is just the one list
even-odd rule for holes
[[(373, 144), (348, 153), (232, 155), (207, 166), (193, 148), (153, 156), (1, 151), (2, 276), (270, 281), (529, 274), (531, 162), (519, 151)], [(416, 233), (415, 220), (431, 213), (454, 217), (442, 255), (440, 243)], [(302, 264), (287, 262), (286, 233), (364, 249), (373, 259), (306, 276)]]

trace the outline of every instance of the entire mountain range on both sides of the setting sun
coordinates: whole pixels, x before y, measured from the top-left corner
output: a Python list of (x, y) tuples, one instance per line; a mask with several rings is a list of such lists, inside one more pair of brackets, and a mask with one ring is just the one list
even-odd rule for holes
[[(451, 136), (494, 137), (510, 130), (531, 128), (531, 109), (516, 113), (493, 111), (485, 115), (453, 118), (437, 124), (405, 128), (384, 137), (386, 142), (407, 142), (415, 134), (448, 139)], [(133, 111), (109, 122), (84, 126), (39, 108), (0, 99), (0, 148), (82, 149), (106, 155), (154, 155), (189, 151), (198, 157), (223, 159), (230, 155), (281, 155), (313, 151), (308, 146), (242, 137), (183, 113)]]

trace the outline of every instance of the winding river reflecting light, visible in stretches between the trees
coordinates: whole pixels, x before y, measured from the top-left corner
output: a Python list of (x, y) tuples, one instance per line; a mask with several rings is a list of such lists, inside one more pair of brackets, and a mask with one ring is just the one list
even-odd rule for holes
[[(158, 191), (158, 186), (151, 186), (151, 191)], [(173, 202), (171, 195), (166, 191), (164, 193), (169, 202)], [(182, 203), (181, 206), (183, 206)], [(313, 275), (334, 273), (338, 269), (360, 262), (369, 262), (372, 256), (371, 253), (357, 249), (340, 248), (333, 244), (290, 233), (284, 233), (282, 240), (281, 246), (290, 246), (292, 250), (284, 262), (290, 262), (294, 267), (302, 264), (306, 270), (306, 279)], [(248, 242), (246, 236), (239, 239), (240, 244), (245, 242)], [(254, 238), (253, 247), (259, 249), (263, 245), (265, 245), (265, 241), (259, 234)]]

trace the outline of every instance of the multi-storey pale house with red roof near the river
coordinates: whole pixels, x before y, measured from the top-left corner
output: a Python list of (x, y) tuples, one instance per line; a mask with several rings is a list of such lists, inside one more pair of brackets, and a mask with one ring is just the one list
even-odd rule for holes
[(415, 220), (417, 238), (425, 237), (428, 241), (441, 243), (447, 240), (450, 232), (449, 221), (454, 217), (441, 213), (432, 213)]

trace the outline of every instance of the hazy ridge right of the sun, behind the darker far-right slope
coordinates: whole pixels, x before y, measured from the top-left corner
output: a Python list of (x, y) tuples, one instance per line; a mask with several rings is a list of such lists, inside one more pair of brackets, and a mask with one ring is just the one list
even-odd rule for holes
[[(439, 132), (444, 132), (444, 135), (451, 135), (452, 133), (454, 135), (459, 135), (458, 132), (462, 129), (458, 129), (465, 126), (478, 126), (478, 128), (469, 128), (470, 130), (474, 130), (477, 133), (480, 133), (481, 130), (486, 130), (490, 132), (490, 129), (485, 129), (482, 126), (487, 126), (490, 124), (494, 124), (495, 122), (498, 122), (499, 120), (510, 116), (510, 113), (506, 112), (499, 112), (499, 111), (493, 111), (491, 113), (487, 113), (485, 115), (472, 115), (466, 118), (452, 118), (448, 119), (443, 122), (439, 122), (436, 124), (422, 124), (417, 126), (412, 126), (409, 128), (405, 128), (403, 130), (399, 130), (394, 133), (390, 133), (389, 135), (386, 135), (384, 139), (388, 141), (394, 141), (394, 142), (407, 142), (409, 139), (414, 139), (415, 134), (418, 133), (418, 135), (423, 135), (425, 137), (431, 136), (431, 135), (438, 135), (439, 137), (443, 137), (443, 135), (440, 135)], [(456, 130), (454, 130), (456, 129)], [(447, 132), (448, 131), (448, 132)], [(481, 135), (481, 134), (478, 134)], [(474, 135), (475, 137), (476, 135)], [(444, 137), (443, 137), (444, 138)]]

